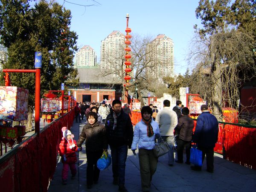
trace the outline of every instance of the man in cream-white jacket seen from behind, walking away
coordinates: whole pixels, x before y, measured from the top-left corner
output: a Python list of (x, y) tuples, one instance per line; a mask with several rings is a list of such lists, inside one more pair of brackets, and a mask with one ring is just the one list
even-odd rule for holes
[(159, 111), (156, 116), (156, 122), (159, 125), (160, 135), (163, 140), (165, 140), (169, 146), (170, 151), (168, 152), (168, 164), (173, 166), (174, 154), (173, 154), (173, 143), (174, 143), (174, 128), (178, 124), (177, 114), (170, 108), (170, 101), (163, 101), (163, 110)]

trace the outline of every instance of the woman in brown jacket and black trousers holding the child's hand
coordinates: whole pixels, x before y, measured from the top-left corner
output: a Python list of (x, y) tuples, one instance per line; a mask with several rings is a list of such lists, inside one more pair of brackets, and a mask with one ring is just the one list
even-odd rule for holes
[(98, 116), (94, 112), (88, 113), (87, 124), (84, 125), (77, 141), (79, 148), (84, 140), (87, 157), (86, 182), (87, 188), (90, 189), (93, 183), (98, 183), (100, 170), (97, 161), (102, 156), (103, 150), (107, 151), (108, 148), (105, 126), (98, 122)]

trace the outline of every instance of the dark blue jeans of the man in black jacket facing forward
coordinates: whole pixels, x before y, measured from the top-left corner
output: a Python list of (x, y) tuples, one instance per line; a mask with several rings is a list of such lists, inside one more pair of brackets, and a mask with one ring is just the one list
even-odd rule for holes
[(118, 177), (119, 185), (125, 184), (125, 162), (127, 158), (128, 145), (110, 146), (112, 156), (113, 177)]

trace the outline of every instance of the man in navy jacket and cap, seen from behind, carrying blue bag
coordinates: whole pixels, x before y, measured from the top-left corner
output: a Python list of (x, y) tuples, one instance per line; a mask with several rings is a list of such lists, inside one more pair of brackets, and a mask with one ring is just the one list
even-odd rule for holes
[[(207, 172), (213, 173), (213, 148), (218, 141), (218, 120), (208, 111), (207, 105), (202, 105), (201, 111), (192, 142), (197, 143), (198, 149), (202, 151), (202, 163), (206, 155)], [(201, 168), (201, 166), (191, 166), (195, 171), (201, 171)]]

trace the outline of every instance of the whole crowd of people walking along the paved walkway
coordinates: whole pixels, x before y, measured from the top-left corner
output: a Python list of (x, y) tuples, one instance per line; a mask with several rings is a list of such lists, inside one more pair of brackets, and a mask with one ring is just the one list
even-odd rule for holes
[[(86, 124), (76, 143), (69, 131), (63, 132), (63, 141), (60, 144), (59, 154), (62, 157), (63, 172), (62, 182), (67, 184), (68, 167), (71, 169), (72, 178), (76, 175), (73, 165), (75, 151), (81, 151), (85, 141), (87, 155), (87, 188), (98, 183), (100, 170), (97, 160), (103, 151), (111, 150), (113, 184), (118, 185), (118, 190), (126, 192), (125, 188), (125, 162), (128, 149), (134, 155), (138, 149), (140, 177), (143, 192), (149, 192), (151, 180), (157, 169), (158, 158), (154, 155), (155, 140), (164, 140), (168, 143), (169, 166), (183, 163), (183, 150), (186, 151), (186, 164), (190, 164), (191, 144), (196, 143), (202, 151), (202, 161), (206, 155), (207, 172), (213, 172), (213, 148), (218, 140), (218, 121), (208, 111), (207, 105), (201, 106), (201, 115), (198, 117), (195, 133), (194, 121), (189, 117), (189, 109), (182, 106), (180, 101), (171, 109), (170, 101), (163, 101), (163, 110), (158, 111), (153, 105), (141, 108), (142, 119), (133, 128), (131, 110), (125, 105), (122, 108), (120, 100), (113, 100), (112, 106), (105, 101), (98, 103), (77, 103), (76, 122), (86, 117)], [(154, 117), (153, 117), (154, 113)], [(155, 114), (157, 113), (157, 114)], [(81, 117), (81, 119), (80, 119)], [(175, 135), (177, 137), (175, 137)], [(174, 140), (177, 139), (177, 158), (174, 158)], [(70, 142), (72, 143), (70, 145)], [(64, 150), (65, 149), (65, 150)], [(67, 154), (64, 152), (67, 151)], [(72, 159), (69, 160), (69, 159)], [(201, 171), (201, 166), (191, 166), (192, 170)]]

